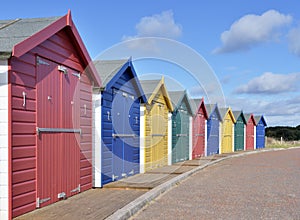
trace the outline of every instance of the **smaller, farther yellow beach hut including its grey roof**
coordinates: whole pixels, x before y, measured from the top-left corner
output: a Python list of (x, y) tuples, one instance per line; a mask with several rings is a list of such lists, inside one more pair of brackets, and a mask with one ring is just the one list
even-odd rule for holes
[(220, 154), (234, 151), (234, 123), (235, 118), (231, 108), (220, 108), (222, 117)]

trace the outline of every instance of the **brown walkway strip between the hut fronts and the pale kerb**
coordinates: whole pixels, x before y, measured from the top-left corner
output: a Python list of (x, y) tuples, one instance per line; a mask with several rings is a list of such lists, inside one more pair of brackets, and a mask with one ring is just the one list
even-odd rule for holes
[[(242, 153), (242, 152), (240, 152)], [(180, 162), (161, 167), (144, 174), (138, 174), (117, 182), (106, 184), (104, 188), (92, 189), (66, 200), (15, 218), (16, 220), (52, 219), (105, 219), (149, 190), (166, 183), (195, 167), (207, 164), (230, 154)], [(171, 187), (171, 186), (170, 186)], [(151, 193), (151, 192), (150, 192)]]

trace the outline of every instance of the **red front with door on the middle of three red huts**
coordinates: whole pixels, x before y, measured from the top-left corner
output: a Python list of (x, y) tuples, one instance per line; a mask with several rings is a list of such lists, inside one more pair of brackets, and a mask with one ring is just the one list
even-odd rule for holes
[(193, 118), (193, 159), (205, 154), (205, 118), (202, 112)]

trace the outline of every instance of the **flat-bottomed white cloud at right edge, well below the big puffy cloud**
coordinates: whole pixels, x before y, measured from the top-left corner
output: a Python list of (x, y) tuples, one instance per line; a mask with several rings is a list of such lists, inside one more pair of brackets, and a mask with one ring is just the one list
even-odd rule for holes
[(299, 90), (300, 73), (274, 74), (266, 72), (247, 84), (238, 87), (236, 93), (279, 94)]

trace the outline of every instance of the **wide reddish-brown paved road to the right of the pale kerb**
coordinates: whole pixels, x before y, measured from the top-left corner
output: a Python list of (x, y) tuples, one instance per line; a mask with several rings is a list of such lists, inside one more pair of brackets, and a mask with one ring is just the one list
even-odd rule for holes
[(300, 149), (221, 161), (132, 219), (300, 219)]

